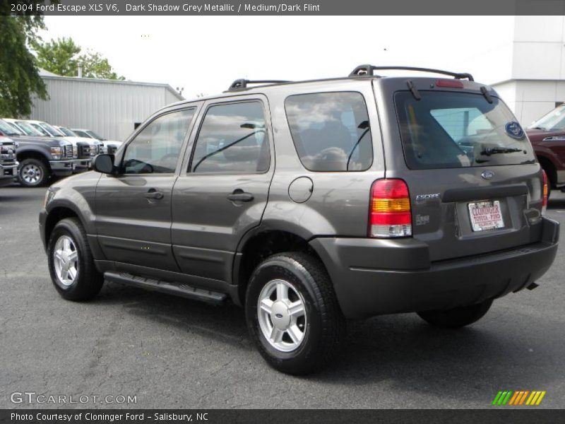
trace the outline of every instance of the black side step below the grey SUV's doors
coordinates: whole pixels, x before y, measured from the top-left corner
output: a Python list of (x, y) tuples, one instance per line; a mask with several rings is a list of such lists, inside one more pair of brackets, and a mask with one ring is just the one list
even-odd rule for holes
[(180, 296), (182, 298), (201, 300), (202, 302), (211, 303), (213, 305), (221, 305), (227, 299), (225, 293), (217, 293), (201, 288), (194, 288), (187, 284), (173, 284), (168, 281), (155, 280), (154, 278), (145, 278), (134, 276), (131, 273), (117, 273), (106, 271), (104, 278), (114, 283), (122, 283), (133, 287), (141, 287), (147, 290), (167, 293), (169, 295)]

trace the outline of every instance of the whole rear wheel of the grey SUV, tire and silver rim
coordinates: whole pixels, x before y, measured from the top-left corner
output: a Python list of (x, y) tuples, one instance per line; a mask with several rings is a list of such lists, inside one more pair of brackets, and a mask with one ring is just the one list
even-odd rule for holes
[[(260, 298), (265, 300), (261, 308)], [(263, 310), (269, 302), (270, 313)], [(291, 302), (294, 313), (288, 309)], [(322, 370), (335, 358), (345, 337), (345, 318), (328, 273), (309, 254), (275, 254), (261, 262), (249, 279), (245, 311), (258, 351), (275, 370), (287, 374)], [(275, 335), (272, 340), (270, 334)]]

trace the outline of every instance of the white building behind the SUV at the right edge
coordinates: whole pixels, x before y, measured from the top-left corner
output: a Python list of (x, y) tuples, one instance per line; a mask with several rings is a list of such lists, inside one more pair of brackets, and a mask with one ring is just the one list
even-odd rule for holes
[(491, 86), (523, 126), (565, 102), (565, 16), (516, 16), (509, 34), (493, 36), (477, 59), (492, 64)]

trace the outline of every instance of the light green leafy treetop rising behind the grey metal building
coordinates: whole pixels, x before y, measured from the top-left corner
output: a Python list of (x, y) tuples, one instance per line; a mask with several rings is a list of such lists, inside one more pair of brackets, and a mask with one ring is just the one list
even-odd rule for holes
[(83, 65), (83, 77), (104, 79), (125, 79), (118, 76), (108, 59), (97, 52), (81, 54), (82, 49), (72, 38), (58, 38), (50, 42), (34, 42), (37, 66), (61, 76), (77, 76), (78, 64)]

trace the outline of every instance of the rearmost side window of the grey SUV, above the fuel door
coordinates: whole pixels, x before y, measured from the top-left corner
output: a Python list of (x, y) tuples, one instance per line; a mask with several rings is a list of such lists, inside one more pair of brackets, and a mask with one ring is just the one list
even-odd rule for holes
[(359, 93), (293, 95), (288, 124), (302, 165), (311, 171), (363, 171), (373, 162), (367, 106)]

